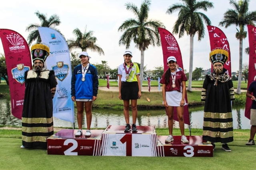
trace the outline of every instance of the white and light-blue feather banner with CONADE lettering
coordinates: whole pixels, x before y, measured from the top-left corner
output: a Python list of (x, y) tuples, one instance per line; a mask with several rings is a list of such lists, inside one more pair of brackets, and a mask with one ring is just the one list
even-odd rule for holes
[(53, 116), (74, 123), (74, 103), (71, 100), (71, 64), (68, 45), (56, 30), (38, 27), (42, 43), (49, 45), (50, 55), (44, 66), (54, 70), (58, 81), (53, 98)]

